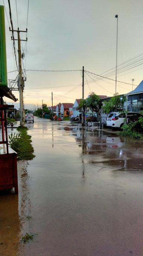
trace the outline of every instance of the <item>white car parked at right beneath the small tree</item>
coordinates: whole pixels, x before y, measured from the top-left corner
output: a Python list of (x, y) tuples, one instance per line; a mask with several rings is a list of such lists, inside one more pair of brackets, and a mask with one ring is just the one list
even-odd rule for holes
[[(143, 115), (137, 112), (128, 112), (127, 113), (127, 122), (137, 121), (139, 117), (143, 117)], [(106, 124), (110, 127), (118, 127), (121, 128), (125, 122), (125, 114), (120, 112), (111, 112), (107, 117)]]

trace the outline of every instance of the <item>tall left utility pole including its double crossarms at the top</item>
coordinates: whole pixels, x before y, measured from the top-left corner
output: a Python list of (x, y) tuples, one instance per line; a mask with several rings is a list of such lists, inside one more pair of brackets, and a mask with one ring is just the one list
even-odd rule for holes
[[(9, 30), (12, 31), (10, 28), (9, 28)], [(19, 82), (19, 103), (20, 103), (20, 126), (24, 126), (24, 121), (25, 121), (25, 112), (24, 112), (24, 105), (23, 105), (24, 79), (22, 77), (21, 41), (27, 41), (27, 38), (26, 38), (26, 40), (21, 40), (20, 39), (20, 32), (27, 33), (27, 28), (26, 28), (26, 31), (19, 30), (19, 28), (18, 28), (18, 30), (13, 30), (13, 31), (18, 33), (18, 39), (14, 39), (14, 40), (18, 41), (18, 62), (19, 62), (19, 78), (18, 78), (18, 82)]]

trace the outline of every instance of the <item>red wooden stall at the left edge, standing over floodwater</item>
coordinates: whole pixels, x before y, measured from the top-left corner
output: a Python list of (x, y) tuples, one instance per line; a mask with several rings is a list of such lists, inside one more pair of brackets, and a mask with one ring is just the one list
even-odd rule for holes
[(0, 104), (0, 190), (15, 188), (15, 193), (18, 194), (17, 154), (8, 146), (6, 125), (6, 109), (12, 107), (14, 106)]

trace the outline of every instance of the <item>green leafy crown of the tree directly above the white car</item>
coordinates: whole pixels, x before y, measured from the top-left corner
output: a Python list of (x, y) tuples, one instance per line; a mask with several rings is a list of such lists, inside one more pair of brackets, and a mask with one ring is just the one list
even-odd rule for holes
[(103, 111), (107, 114), (110, 112), (124, 112), (124, 103), (125, 103), (125, 96), (121, 96), (118, 93), (114, 94), (114, 97), (111, 98), (109, 101), (104, 102)]

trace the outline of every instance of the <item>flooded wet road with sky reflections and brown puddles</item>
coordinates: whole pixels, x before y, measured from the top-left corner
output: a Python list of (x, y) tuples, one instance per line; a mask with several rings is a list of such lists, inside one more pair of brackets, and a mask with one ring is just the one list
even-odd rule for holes
[[(0, 256), (143, 256), (143, 145), (35, 118), (19, 196), (0, 195)], [(34, 240), (20, 243), (22, 235)]]

